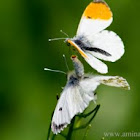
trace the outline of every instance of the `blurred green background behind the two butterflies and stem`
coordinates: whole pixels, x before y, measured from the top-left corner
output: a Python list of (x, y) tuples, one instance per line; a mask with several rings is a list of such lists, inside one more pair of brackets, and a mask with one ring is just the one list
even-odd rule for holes
[[(56, 94), (61, 93), (66, 77), (43, 69), (67, 71), (62, 54), (73, 69), (69, 59), (71, 49), (63, 41), (48, 42), (48, 38), (65, 37), (59, 32), (61, 29), (73, 37), (89, 2), (0, 2), (0, 140), (46, 140), (51, 113), (57, 103)], [(126, 78), (131, 91), (103, 85), (98, 88), (97, 103), (101, 108), (87, 140), (100, 140), (104, 132), (140, 132), (140, 1), (106, 2), (114, 14), (114, 22), (108, 29), (119, 34), (126, 49), (122, 59), (114, 64), (107, 62), (108, 75)], [(86, 72), (95, 73), (83, 59), (81, 61)], [(91, 104), (90, 109), (94, 106)], [(73, 139), (81, 139), (82, 134), (83, 131), (75, 133)]]

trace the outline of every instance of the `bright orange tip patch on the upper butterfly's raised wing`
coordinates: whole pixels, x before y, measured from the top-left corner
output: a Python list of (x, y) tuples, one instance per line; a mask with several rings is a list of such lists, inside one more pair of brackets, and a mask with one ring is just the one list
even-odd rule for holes
[(88, 19), (109, 20), (112, 17), (112, 12), (105, 2), (96, 0), (87, 6), (83, 16)]

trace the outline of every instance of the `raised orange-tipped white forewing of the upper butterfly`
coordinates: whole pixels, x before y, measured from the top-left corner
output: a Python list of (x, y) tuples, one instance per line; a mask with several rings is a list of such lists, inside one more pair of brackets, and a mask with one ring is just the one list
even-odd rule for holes
[(96, 34), (107, 28), (112, 21), (112, 12), (103, 0), (91, 2), (82, 15), (77, 36)]

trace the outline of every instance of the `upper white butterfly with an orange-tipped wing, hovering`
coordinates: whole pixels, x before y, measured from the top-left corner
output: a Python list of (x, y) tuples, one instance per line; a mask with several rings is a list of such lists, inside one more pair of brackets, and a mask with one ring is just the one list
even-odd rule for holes
[(94, 0), (84, 11), (76, 36), (65, 41), (68, 46), (74, 46), (86, 62), (100, 73), (107, 73), (108, 67), (99, 59), (115, 62), (124, 54), (121, 38), (113, 31), (104, 30), (112, 21), (109, 6), (103, 0)]

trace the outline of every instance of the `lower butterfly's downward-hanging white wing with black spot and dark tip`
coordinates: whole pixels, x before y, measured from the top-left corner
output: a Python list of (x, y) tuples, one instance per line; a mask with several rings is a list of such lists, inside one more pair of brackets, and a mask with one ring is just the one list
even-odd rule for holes
[(58, 101), (52, 118), (52, 131), (54, 134), (60, 133), (71, 119), (78, 113), (82, 113), (93, 100), (92, 95), (85, 94), (80, 86), (67, 85)]

